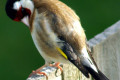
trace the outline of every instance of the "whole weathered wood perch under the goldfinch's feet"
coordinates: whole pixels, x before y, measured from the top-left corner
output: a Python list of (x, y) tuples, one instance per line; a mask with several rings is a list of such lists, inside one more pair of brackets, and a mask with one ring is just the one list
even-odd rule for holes
[[(62, 64), (61, 64), (62, 65)], [(56, 67), (45, 67), (41, 72), (45, 72), (48, 76), (48, 80), (91, 80), (87, 79), (75, 66), (72, 64), (62, 65), (63, 72)], [(35, 74), (29, 77), (27, 80), (47, 80), (46, 76)]]

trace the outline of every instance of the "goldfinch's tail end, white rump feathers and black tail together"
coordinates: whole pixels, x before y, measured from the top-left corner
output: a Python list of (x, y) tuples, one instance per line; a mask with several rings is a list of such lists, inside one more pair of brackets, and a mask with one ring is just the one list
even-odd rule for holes
[(109, 80), (97, 67), (93, 57), (83, 48), (79, 56), (84, 68), (92, 75), (95, 80)]

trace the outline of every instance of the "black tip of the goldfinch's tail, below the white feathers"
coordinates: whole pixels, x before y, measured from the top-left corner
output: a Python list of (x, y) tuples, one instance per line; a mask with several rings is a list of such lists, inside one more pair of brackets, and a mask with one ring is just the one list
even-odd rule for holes
[(86, 68), (95, 80), (109, 80), (100, 70), (95, 72), (92, 68)]

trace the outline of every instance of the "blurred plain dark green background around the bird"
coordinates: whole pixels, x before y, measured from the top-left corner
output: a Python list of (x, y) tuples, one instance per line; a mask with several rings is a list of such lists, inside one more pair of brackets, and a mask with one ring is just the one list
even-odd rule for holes
[[(6, 16), (0, 0), (0, 80), (25, 80), (44, 64), (29, 29)], [(81, 18), (90, 39), (120, 19), (120, 0), (62, 0)]]

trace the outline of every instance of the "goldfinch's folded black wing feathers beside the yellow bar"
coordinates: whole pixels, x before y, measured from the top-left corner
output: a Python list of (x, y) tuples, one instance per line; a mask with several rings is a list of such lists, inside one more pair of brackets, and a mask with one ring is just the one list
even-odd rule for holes
[(62, 42), (64, 44), (62, 51), (67, 55), (68, 60), (73, 63), (87, 78), (89, 78), (87, 69), (84, 68), (80, 62), (80, 58), (76, 55), (73, 48), (62, 37), (60, 37), (60, 39), (64, 41)]

